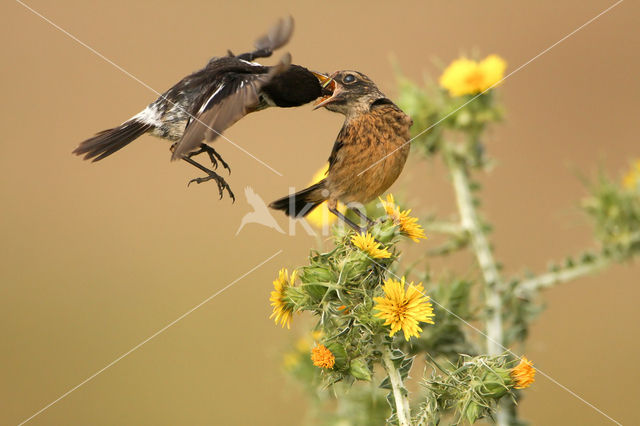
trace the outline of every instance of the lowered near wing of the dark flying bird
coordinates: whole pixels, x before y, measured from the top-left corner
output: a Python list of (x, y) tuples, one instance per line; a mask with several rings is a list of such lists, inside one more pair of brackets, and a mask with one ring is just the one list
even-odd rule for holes
[[(291, 55), (285, 54), (268, 73), (230, 72), (214, 87), (213, 93), (194, 108), (182, 139), (176, 145), (172, 159), (195, 150), (204, 141), (213, 141), (224, 130), (247, 115), (258, 105), (260, 90), (274, 76), (291, 65)], [(197, 109), (196, 109), (197, 108)]]

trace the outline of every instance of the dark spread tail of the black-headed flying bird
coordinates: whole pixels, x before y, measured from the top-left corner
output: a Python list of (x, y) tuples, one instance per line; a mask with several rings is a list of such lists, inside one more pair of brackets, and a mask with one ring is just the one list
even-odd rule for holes
[(121, 148), (124, 148), (153, 126), (138, 120), (129, 120), (113, 129), (103, 130), (92, 138), (82, 142), (73, 150), (76, 155), (84, 155), (85, 160), (102, 160)]

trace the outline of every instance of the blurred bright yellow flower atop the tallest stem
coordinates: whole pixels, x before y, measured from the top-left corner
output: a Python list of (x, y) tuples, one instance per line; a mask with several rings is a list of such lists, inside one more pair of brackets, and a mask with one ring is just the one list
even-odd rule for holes
[(506, 68), (507, 63), (498, 55), (489, 55), (480, 62), (456, 59), (440, 76), (440, 85), (451, 96), (484, 92), (502, 80)]

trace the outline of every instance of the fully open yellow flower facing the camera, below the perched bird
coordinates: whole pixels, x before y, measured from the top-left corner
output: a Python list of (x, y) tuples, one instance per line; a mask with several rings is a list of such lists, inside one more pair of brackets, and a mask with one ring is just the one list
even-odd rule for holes
[(382, 290), (384, 297), (373, 298), (376, 302), (374, 309), (379, 311), (375, 316), (384, 319), (384, 325), (391, 326), (389, 336), (402, 330), (404, 338), (408, 341), (412, 336), (420, 336), (422, 329), (419, 323), (434, 324), (433, 307), (429, 302), (429, 296), (424, 295), (422, 283), (410, 283), (405, 291), (404, 277), (402, 281), (390, 278), (384, 282)]

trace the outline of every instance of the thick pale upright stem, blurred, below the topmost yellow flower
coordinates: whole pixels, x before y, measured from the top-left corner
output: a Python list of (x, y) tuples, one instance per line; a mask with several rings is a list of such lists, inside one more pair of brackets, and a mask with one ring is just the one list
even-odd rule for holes
[[(489, 240), (474, 205), (468, 166), (463, 158), (458, 157), (451, 150), (447, 152), (446, 159), (456, 193), (460, 221), (462, 227), (469, 233), (473, 251), (485, 282), (487, 352), (489, 355), (500, 355), (504, 350), (502, 344), (502, 293), (504, 285), (498, 272), (498, 266), (493, 257)], [(504, 408), (498, 410), (496, 424), (500, 426), (511, 424), (509, 410)]]

